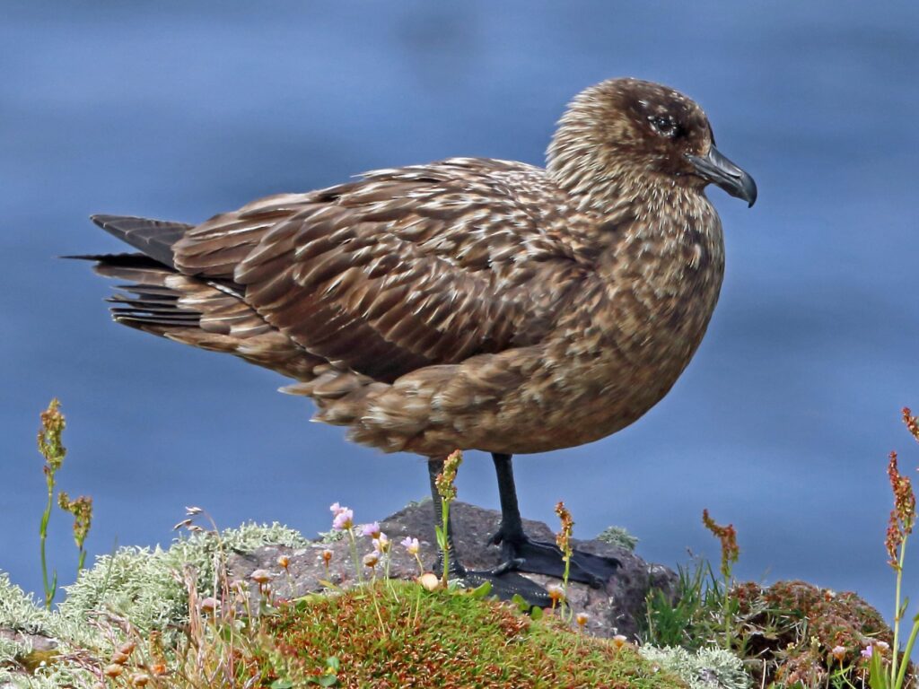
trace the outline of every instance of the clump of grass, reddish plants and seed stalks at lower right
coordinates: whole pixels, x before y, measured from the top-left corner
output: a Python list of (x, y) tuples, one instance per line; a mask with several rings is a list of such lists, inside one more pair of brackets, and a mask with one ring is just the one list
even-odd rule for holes
[[(919, 422), (908, 409), (902, 416), (919, 441)], [(905, 648), (899, 649), (907, 609), (902, 601), (902, 563), (916, 507), (912, 484), (897, 468), (896, 453), (891, 453), (888, 477), (894, 508), (886, 545), (897, 578), (892, 630), (855, 593), (835, 593), (806, 582), (777, 582), (769, 587), (734, 582), (732, 565), (740, 553), (736, 533), (732, 525), (717, 525), (705, 512), (703, 522), (720, 539), (720, 577), (705, 561), (681, 567), (673, 598), (662, 592), (648, 598), (645, 643), (730, 650), (761, 686), (903, 689), (911, 681), (914, 685), (916, 671), (908, 659), (919, 636), (919, 615), (913, 617)]]

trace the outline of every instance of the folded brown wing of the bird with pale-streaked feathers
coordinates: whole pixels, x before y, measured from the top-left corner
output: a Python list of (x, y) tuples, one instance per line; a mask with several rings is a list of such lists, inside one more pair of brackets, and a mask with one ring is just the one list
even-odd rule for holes
[[(528, 198), (511, 191), (521, 188)], [(529, 200), (553, 196), (523, 164), (382, 170), (216, 216), (175, 244), (176, 267), (232, 280), (312, 355), (391, 381), (550, 331), (593, 269), (558, 209)]]

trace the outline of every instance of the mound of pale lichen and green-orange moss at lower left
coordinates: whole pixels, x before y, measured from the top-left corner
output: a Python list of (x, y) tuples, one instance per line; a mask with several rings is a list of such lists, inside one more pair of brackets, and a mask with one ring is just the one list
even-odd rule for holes
[(0, 645), (0, 683), (92, 687), (105, 677), (112, 687), (283, 689), (330, 679), (330, 686), (380, 687), (682, 686), (661, 672), (663, 661), (645, 660), (621, 639), (584, 636), (549, 614), (535, 620), (514, 604), (484, 600), (485, 590), (428, 591), (380, 580), (273, 602), (266, 587), (262, 605), (250, 609), (247, 587), (226, 582), (224, 571), (212, 595), (208, 575), (221, 548), (252, 549), (289, 535), (278, 526), (247, 526), (180, 538), (168, 550), (125, 548), (98, 559), (54, 613), (4, 577), (0, 627), (62, 644), (54, 653), (36, 653), (26, 641)]

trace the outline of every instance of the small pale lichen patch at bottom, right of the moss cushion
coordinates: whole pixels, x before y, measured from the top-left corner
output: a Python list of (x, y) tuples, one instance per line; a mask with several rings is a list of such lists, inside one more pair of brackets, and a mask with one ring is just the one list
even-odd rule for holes
[(677, 675), (689, 689), (749, 689), (750, 676), (743, 661), (724, 649), (698, 649), (695, 652), (666, 646), (642, 646), (642, 656)]

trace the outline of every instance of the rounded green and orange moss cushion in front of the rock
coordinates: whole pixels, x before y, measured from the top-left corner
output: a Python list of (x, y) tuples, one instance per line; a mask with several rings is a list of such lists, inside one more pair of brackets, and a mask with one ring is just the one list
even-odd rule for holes
[(275, 654), (259, 662), (261, 686), (302, 685), (326, 672), (330, 658), (343, 687), (683, 685), (630, 645), (585, 637), (552, 616), (533, 621), (508, 604), (410, 583), (309, 596), (265, 623)]

